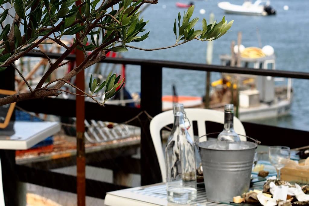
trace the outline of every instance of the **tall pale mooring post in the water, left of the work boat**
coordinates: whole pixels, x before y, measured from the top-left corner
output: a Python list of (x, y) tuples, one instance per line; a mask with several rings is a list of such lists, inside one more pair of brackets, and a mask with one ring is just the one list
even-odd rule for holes
[[(209, 22), (214, 21), (214, 13), (210, 13)], [(212, 62), (212, 54), (213, 54), (214, 42), (209, 41), (207, 43), (207, 52), (206, 52), (206, 64), (211, 64)], [(206, 92), (205, 92), (205, 108), (209, 108), (209, 98), (210, 94), (210, 72), (206, 72)]]

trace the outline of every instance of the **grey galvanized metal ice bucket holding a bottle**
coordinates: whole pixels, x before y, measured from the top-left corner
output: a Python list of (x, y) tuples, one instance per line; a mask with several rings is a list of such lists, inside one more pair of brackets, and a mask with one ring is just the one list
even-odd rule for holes
[(203, 166), (206, 197), (214, 202), (229, 202), (249, 190), (256, 143), (241, 141), (247, 149), (208, 149), (216, 141), (198, 143)]

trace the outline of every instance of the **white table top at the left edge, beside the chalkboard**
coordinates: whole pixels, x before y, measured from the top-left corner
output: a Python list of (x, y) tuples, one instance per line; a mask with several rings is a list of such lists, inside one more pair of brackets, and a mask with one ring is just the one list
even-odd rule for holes
[(40, 141), (60, 131), (58, 122), (14, 122), (15, 134), (0, 135), (0, 149), (29, 149)]

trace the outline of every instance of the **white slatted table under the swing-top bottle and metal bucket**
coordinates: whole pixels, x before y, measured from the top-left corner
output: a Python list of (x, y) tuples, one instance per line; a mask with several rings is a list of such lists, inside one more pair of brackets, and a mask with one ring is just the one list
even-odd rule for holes
[[(250, 189), (260, 189), (263, 187), (265, 181), (257, 182)], [(197, 201), (189, 204), (192, 206), (227, 206), (226, 204), (218, 204), (206, 200), (205, 187), (201, 184), (197, 188)], [(104, 204), (108, 206), (122, 206), (122, 205), (152, 205), (152, 206), (173, 206), (177, 204), (167, 202), (166, 183), (158, 183), (143, 187), (134, 187), (124, 190), (112, 191), (106, 193)]]

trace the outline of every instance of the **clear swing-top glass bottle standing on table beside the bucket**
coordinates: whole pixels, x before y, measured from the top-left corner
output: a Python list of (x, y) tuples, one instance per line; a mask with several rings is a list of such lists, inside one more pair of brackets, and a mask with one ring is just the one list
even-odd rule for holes
[(188, 204), (197, 198), (195, 149), (184, 122), (184, 105), (174, 104), (174, 125), (165, 148), (167, 200)]

